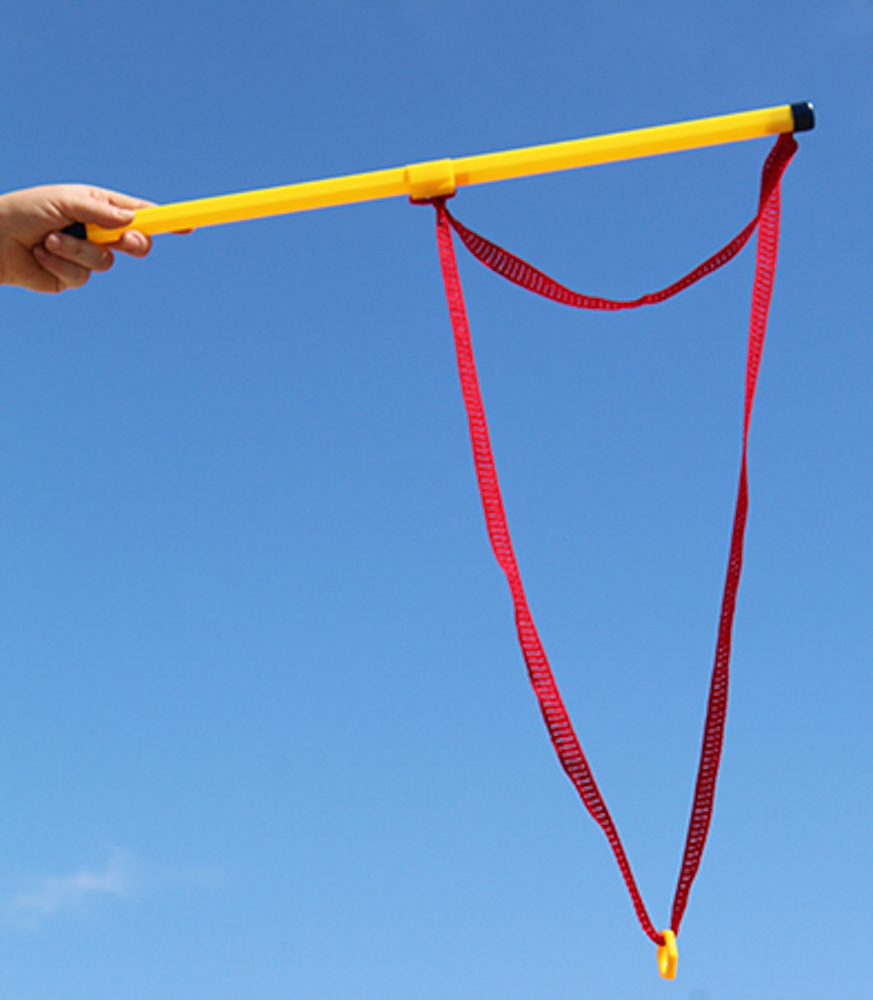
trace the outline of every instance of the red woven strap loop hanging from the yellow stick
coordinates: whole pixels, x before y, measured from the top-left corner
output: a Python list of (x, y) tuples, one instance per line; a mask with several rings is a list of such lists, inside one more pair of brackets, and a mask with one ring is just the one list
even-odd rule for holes
[(450, 227), (455, 229), (465, 246), (479, 260), (509, 280), (522, 285), (524, 288), (579, 308), (626, 309), (661, 302), (675, 295), (683, 288), (687, 288), (688, 285), (698, 281), (704, 275), (721, 267), (742, 249), (756, 226), (760, 226), (755, 282), (752, 293), (749, 353), (746, 367), (746, 404), (740, 485), (736, 512), (734, 514), (728, 573), (722, 599), (715, 665), (712, 673), (694, 806), (692, 808), (685, 854), (673, 903), (671, 927), (673, 931), (678, 931), (688, 901), (691, 884), (700, 866), (700, 859), (703, 854), (712, 818), (715, 784), (721, 757), (725, 715), (727, 711), (731, 629), (742, 568), (743, 536), (748, 510), (746, 454), (749, 423), (752, 415), (755, 385), (764, 346), (767, 313), (770, 306), (773, 278), (776, 269), (779, 238), (779, 181), (796, 149), (797, 144), (792, 136), (779, 137), (764, 166), (758, 214), (734, 240), (713, 257), (710, 257), (700, 267), (691, 271), (684, 278), (681, 278), (668, 288), (650, 295), (644, 295), (630, 302), (593, 298), (591, 296), (580, 295), (578, 292), (573, 292), (565, 288), (541, 271), (531, 267), (530, 264), (520, 260), (520, 258), (515, 257), (496, 244), (484, 239), (484, 237), (478, 236), (476, 233), (466, 229), (450, 215), (445, 207), (444, 199), (437, 199), (435, 201), (440, 265), (442, 267), (443, 282), (448, 300), (449, 315), (454, 331), (458, 371), (470, 426), (470, 439), (473, 447), (476, 478), (479, 484), (479, 492), (482, 498), (491, 547), (509, 583), (512, 601), (515, 606), (518, 638), (525, 664), (527, 665), (528, 676), (536, 693), (540, 710), (542, 711), (552, 744), (555, 747), (561, 765), (576, 787), (589, 813), (606, 835), (627, 885), (640, 925), (648, 937), (657, 945), (664, 944), (663, 935), (658, 933), (649, 918), (618, 831), (603, 800), (603, 796), (597, 787), (594, 775), (576, 737), (576, 733), (573, 730), (573, 725), (561, 699), (558, 686), (537, 633), (530, 608), (528, 607), (527, 597), (524, 592), (503, 508), (497, 470), (494, 465), (494, 455), (491, 450), (485, 409), (479, 390), (479, 379), (470, 338), (470, 327), (467, 321), (467, 312), (464, 305), (464, 296), (461, 289), (460, 276), (458, 275)]

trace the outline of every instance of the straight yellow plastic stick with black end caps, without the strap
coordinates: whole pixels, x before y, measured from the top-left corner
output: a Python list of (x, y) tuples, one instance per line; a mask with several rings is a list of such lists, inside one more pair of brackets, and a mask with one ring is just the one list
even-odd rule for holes
[[(430, 160), (390, 170), (181, 201), (141, 209), (127, 228), (156, 235), (399, 195), (413, 199), (448, 196), (454, 194), (456, 188), (469, 184), (487, 184), (514, 177), (530, 177), (556, 170), (757, 139), (781, 132), (805, 131), (811, 129), (814, 122), (811, 104), (784, 104), (759, 111), (658, 125), (503, 153), (465, 156), (457, 160)], [(113, 243), (123, 231), (87, 227), (88, 239), (95, 243)]]

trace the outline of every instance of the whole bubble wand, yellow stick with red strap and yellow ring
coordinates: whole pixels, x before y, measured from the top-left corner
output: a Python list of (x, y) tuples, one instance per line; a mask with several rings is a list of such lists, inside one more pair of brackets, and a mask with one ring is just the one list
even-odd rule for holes
[[(708, 836), (721, 758), (733, 618), (742, 572), (748, 512), (749, 427), (776, 270), (780, 181), (797, 149), (793, 133), (807, 131), (813, 128), (814, 124), (815, 117), (811, 104), (781, 105), (759, 111), (636, 129), (570, 142), (469, 156), (457, 160), (431, 160), (390, 170), (146, 208), (137, 211), (131, 224), (124, 229), (106, 230), (77, 223), (66, 230), (83, 239), (111, 244), (126, 229), (157, 235), (396, 196), (406, 196), (413, 201), (431, 202), (434, 205), (437, 213), (440, 265), (455, 336), (476, 477), (491, 546), (506, 575), (512, 595), (519, 644), (529, 679), (561, 765), (592, 818), (609, 841), (640, 925), (657, 946), (658, 969), (665, 979), (673, 979), (676, 976), (678, 965), (676, 937)], [(446, 199), (451, 197), (457, 188), (466, 185), (614, 163), (767, 135), (777, 135), (779, 138), (764, 165), (758, 213), (752, 221), (730, 243), (672, 285), (633, 300), (616, 301), (574, 292), (514, 254), (467, 229), (446, 208)], [(527, 603), (491, 452), (466, 307), (455, 262), (452, 231), (483, 264), (523, 288), (576, 308), (617, 310), (654, 305), (677, 294), (736, 256), (756, 230), (758, 230), (758, 249), (746, 362), (743, 446), (728, 571), (722, 597), (715, 664), (710, 682), (703, 745), (685, 851), (673, 901), (671, 923), (668, 928), (659, 932), (655, 929), (643, 903), (618, 830), (573, 730)]]

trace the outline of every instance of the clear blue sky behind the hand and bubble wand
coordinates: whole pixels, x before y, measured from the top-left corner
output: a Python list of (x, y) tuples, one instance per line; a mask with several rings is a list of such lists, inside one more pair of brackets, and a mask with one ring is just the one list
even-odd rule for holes
[[(0, 189), (158, 202), (815, 102), (784, 186), (717, 808), (662, 983), (560, 770), (479, 507), (430, 209), (161, 237), (0, 289), (0, 994), (869, 989), (873, 3), (6, 3)], [(631, 297), (766, 140), (467, 189)], [(659, 927), (699, 752), (753, 249), (564, 310), (459, 250), (516, 550)]]

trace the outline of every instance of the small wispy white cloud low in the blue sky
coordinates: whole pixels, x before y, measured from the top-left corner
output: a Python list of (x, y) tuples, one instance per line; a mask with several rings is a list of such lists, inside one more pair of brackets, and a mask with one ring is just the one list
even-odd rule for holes
[(53, 917), (81, 913), (101, 898), (132, 895), (137, 877), (132, 859), (124, 851), (112, 851), (102, 866), (80, 868), (70, 875), (49, 875), (5, 900), (7, 921), (33, 928)]

